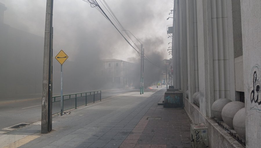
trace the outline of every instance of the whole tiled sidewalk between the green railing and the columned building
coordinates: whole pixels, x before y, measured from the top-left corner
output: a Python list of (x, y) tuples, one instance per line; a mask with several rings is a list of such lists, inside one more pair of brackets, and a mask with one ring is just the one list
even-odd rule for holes
[(40, 133), (41, 125), (30, 124), (0, 135), (0, 147), (4, 142), (2, 147), (20, 148), (191, 148), (184, 109), (157, 105), (165, 91), (126, 93), (55, 116), (48, 134)]

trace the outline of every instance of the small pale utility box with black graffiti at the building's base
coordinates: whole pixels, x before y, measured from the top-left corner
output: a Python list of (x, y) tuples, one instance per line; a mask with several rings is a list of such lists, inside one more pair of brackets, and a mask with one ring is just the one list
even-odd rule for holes
[(193, 148), (209, 147), (208, 127), (203, 123), (190, 124), (191, 145)]

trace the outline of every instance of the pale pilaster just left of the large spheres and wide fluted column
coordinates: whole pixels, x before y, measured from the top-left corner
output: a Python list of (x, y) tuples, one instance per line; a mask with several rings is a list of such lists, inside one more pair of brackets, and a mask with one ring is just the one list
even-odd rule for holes
[(210, 117), (213, 97), (213, 53), (211, 32), (211, 1), (197, 1), (197, 35), (200, 112)]

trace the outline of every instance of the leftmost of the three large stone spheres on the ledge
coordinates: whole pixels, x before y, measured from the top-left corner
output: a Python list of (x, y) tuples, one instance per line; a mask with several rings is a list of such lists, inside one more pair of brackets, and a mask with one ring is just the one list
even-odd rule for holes
[(223, 121), (221, 112), (222, 112), (223, 107), (226, 104), (228, 104), (229, 102), (232, 102), (232, 101), (229, 99), (226, 99), (226, 98), (221, 98), (221, 99), (216, 100), (212, 104), (212, 107), (211, 107), (211, 113), (213, 114), (213, 116), (215, 118), (217, 118), (218, 120)]

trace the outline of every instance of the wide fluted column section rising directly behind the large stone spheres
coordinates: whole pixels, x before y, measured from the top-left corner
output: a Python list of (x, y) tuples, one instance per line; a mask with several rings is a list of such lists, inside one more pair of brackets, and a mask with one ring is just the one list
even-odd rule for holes
[(231, 1), (211, 0), (211, 24), (214, 98), (235, 100)]

